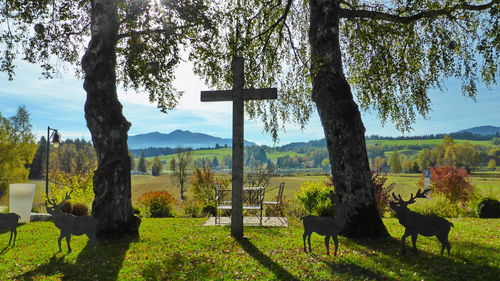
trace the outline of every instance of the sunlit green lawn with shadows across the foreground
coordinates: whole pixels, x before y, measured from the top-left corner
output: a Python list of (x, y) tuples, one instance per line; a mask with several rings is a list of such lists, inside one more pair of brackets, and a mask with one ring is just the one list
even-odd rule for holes
[[(435, 238), (419, 237), (419, 255), (401, 255), (395, 238), (356, 241), (340, 237), (339, 255), (327, 256), (314, 234), (313, 253), (302, 250), (302, 226), (246, 227), (247, 239), (229, 237), (228, 227), (203, 227), (204, 219), (143, 219), (136, 241), (72, 239), (73, 252), (57, 252), (51, 222), (18, 227), (7, 247), (0, 234), (1, 280), (498, 280), (500, 220), (451, 219), (451, 255), (440, 256)], [(396, 219), (384, 220), (400, 237)]]

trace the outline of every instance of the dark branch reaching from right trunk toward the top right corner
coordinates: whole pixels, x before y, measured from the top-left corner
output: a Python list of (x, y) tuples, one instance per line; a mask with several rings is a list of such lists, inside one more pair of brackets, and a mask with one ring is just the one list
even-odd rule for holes
[(491, 2), (483, 5), (470, 5), (467, 3), (462, 3), (462, 4), (457, 4), (452, 7), (448, 8), (443, 8), (439, 10), (426, 10), (419, 12), (415, 15), (412, 16), (407, 16), (407, 17), (401, 17), (397, 16), (394, 14), (390, 13), (384, 13), (384, 12), (377, 12), (377, 11), (369, 11), (369, 10), (351, 10), (351, 9), (340, 9), (339, 17), (340, 18), (347, 18), (347, 19), (354, 19), (354, 18), (363, 18), (363, 19), (373, 19), (373, 20), (385, 20), (385, 21), (390, 21), (390, 22), (395, 22), (395, 23), (402, 23), (402, 24), (408, 24), (415, 22), (417, 20), (423, 19), (423, 18), (435, 18), (438, 16), (442, 15), (451, 15), (452, 12), (458, 11), (458, 10), (464, 10), (464, 11), (481, 11), (481, 10), (486, 10), (493, 5), (498, 4), (499, 0), (492, 0)]

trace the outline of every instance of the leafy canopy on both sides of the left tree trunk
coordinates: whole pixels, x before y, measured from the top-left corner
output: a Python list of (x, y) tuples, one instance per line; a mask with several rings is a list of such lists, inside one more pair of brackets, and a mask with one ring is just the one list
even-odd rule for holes
[[(7, 0), (0, 3), (0, 71), (14, 79), (19, 60), (39, 64), (44, 78), (73, 68), (82, 77), (81, 56), (91, 32), (95, 1)], [(210, 36), (202, 0), (116, 1), (120, 21), (116, 77), (125, 89), (145, 92), (162, 111), (175, 107), (175, 66), (183, 46)]]

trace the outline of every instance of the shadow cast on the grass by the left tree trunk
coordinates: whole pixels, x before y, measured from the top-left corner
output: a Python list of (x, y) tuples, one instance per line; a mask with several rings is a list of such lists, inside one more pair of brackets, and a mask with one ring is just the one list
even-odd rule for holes
[[(125, 254), (136, 238), (99, 241), (96, 250), (87, 243), (75, 263), (65, 261), (67, 254), (56, 253), (46, 264), (14, 277), (16, 280), (40, 280), (45, 276), (60, 276), (61, 280), (116, 280)], [(64, 242), (64, 241), (63, 241)], [(63, 251), (66, 248), (63, 247)]]

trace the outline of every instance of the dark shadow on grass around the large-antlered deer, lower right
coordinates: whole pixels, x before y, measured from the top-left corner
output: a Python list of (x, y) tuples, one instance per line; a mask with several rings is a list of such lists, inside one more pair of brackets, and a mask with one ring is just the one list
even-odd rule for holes
[[(419, 239), (422, 239), (419, 237)], [(496, 253), (496, 249), (484, 247), (471, 242), (451, 242), (452, 250), (448, 257), (440, 255), (441, 244), (436, 243), (436, 249), (432, 252), (426, 252), (419, 247), (417, 241), (418, 253), (415, 254), (413, 247), (406, 241), (406, 253), (401, 253), (401, 240), (394, 237), (379, 240), (351, 240), (353, 244), (364, 246), (372, 251), (381, 252), (386, 258), (380, 259), (381, 267), (392, 268), (400, 264), (403, 268), (394, 268), (415, 272), (420, 278), (428, 280), (497, 280), (500, 276), (500, 269), (496, 266), (482, 264), (477, 258), (464, 257), (457, 254), (457, 250), (464, 245), (467, 247), (479, 249), (483, 247), (490, 253)], [(366, 250), (365, 248), (365, 250)], [(362, 248), (358, 249), (363, 251)], [(454, 251), (455, 250), (455, 251)], [(397, 261), (396, 261), (397, 260)]]

